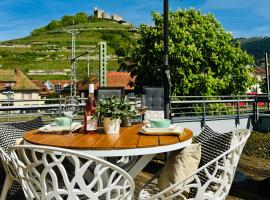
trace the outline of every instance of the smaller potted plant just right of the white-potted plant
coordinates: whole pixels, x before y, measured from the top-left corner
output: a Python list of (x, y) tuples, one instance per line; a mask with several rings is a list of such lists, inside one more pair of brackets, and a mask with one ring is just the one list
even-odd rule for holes
[(124, 98), (122, 100), (121, 111), (122, 111), (122, 116), (121, 116), (122, 126), (124, 127), (131, 126), (131, 118), (136, 113), (135, 113), (135, 110), (132, 109), (132, 106), (128, 98)]

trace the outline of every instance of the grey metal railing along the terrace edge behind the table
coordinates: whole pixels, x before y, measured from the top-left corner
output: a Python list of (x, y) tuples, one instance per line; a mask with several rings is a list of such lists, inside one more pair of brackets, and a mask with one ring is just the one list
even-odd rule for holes
[[(79, 98), (81, 119), (86, 98)], [(39, 100), (0, 100), (0, 122), (26, 121), (42, 116), (44, 121), (51, 121), (60, 116), (64, 98)], [(131, 97), (130, 102), (140, 105), (139, 98)], [(267, 96), (172, 96), (171, 111), (174, 122), (201, 121), (209, 119), (234, 118), (239, 123), (242, 117), (254, 116), (268, 110)]]

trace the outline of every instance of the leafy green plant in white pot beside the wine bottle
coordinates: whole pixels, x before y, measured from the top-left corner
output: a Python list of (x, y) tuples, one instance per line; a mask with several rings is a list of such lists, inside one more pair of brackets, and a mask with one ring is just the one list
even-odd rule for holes
[(99, 100), (97, 104), (97, 118), (100, 122), (103, 121), (105, 133), (119, 133), (122, 117), (121, 104), (121, 99), (115, 96)]

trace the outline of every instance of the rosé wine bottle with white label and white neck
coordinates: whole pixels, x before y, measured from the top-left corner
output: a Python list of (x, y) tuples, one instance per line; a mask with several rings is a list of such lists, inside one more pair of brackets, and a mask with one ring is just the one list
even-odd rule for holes
[(88, 133), (95, 132), (97, 129), (97, 120), (94, 118), (95, 114), (94, 84), (89, 84), (89, 96), (84, 109), (84, 130)]

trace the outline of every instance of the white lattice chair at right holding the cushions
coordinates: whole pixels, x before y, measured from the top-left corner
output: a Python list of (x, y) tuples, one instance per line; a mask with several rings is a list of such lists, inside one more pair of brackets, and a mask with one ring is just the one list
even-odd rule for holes
[[(237, 137), (237, 144), (232, 146), (228, 151), (218, 156), (208, 164), (202, 166), (195, 171), (191, 176), (187, 177), (182, 182), (173, 184), (167, 189), (150, 194), (151, 190), (142, 190), (139, 195), (140, 200), (161, 200), (161, 199), (177, 199), (177, 200), (224, 200), (228, 194), (233, 182), (234, 174), (240, 159), (242, 150), (247, 139), (250, 136), (250, 131), (247, 129), (238, 129), (235, 131)], [(219, 161), (223, 162), (219, 162)], [(213, 165), (214, 172), (209, 172), (210, 165)], [(205, 184), (201, 183), (198, 173), (204, 171), (208, 177)], [(220, 173), (220, 175), (217, 175)], [(194, 180), (190, 182), (190, 180)], [(210, 184), (213, 189), (209, 189)], [(195, 197), (189, 197), (189, 191), (195, 191)]]

